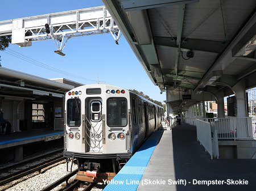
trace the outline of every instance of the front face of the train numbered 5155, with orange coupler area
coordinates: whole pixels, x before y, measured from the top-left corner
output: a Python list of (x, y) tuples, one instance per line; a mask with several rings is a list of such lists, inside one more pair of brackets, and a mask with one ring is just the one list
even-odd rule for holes
[(105, 84), (65, 95), (64, 156), (79, 168), (77, 179), (111, 180), (131, 157), (129, 91)]

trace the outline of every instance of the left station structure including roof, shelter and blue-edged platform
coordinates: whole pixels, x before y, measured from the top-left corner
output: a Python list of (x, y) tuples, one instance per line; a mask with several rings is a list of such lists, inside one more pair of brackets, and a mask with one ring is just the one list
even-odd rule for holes
[(0, 112), (11, 124), (11, 133), (0, 135), (0, 163), (63, 144), (65, 92), (81, 85), (0, 67)]

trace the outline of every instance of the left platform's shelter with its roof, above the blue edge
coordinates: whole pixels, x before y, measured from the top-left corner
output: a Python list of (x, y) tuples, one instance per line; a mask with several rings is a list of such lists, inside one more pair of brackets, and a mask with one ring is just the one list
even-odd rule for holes
[(0, 111), (11, 131), (61, 130), (65, 92), (82, 84), (45, 79), (0, 67)]

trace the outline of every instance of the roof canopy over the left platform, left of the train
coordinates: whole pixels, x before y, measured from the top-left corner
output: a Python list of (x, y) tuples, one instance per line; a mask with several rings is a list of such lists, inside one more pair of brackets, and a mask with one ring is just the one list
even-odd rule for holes
[(64, 97), (74, 88), (69, 84), (0, 67), (0, 97), (34, 99), (36, 96)]

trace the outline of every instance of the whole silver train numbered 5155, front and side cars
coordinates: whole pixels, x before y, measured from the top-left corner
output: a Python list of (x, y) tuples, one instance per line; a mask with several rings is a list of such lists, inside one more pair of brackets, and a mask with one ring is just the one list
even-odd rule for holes
[(128, 90), (74, 88), (65, 95), (64, 157), (78, 165), (78, 180), (111, 180), (162, 120), (162, 107)]

